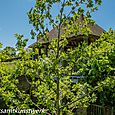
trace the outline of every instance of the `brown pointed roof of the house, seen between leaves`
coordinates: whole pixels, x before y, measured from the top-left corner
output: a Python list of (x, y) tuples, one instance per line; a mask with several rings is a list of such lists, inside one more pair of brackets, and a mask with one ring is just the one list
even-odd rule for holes
[[(76, 23), (82, 22), (83, 21), (83, 16), (81, 16)], [(90, 28), (90, 30), (92, 31), (92, 35), (94, 36), (100, 36), (103, 32), (105, 32), (105, 30), (103, 28), (101, 28), (99, 25), (95, 24), (89, 24), (88, 27)], [(63, 33), (63, 30), (61, 28), (61, 34)], [(47, 37), (49, 38), (49, 42), (52, 41), (53, 38), (57, 38), (58, 37), (58, 30), (57, 28), (53, 28), (49, 34), (47, 35)], [(47, 44), (49, 42), (45, 42), (43, 39), (40, 39), (39, 41), (31, 44), (29, 47), (33, 47), (34, 45), (36, 45), (38, 42), (41, 42), (42, 44)]]

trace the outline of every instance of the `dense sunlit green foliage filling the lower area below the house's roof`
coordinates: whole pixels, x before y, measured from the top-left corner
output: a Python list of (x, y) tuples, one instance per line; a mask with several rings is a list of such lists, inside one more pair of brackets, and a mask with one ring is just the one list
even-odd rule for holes
[[(55, 50), (50, 50), (48, 56), (37, 60), (30, 60), (31, 55), (23, 53), (22, 59), (12, 63), (10, 70), (8, 63), (2, 63), (0, 92), (5, 104), (8, 108), (44, 108), (47, 113), (55, 113), (58, 75), (61, 113), (72, 114), (73, 109), (87, 107), (96, 100), (112, 105), (115, 98), (114, 37), (114, 33), (107, 32), (89, 46), (84, 43), (66, 53), (61, 52), (58, 59)], [(50, 47), (54, 44), (52, 41)], [(68, 65), (63, 65), (63, 60)], [(75, 65), (77, 73), (73, 71)], [(72, 85), (71, 73), (85, 77)]]

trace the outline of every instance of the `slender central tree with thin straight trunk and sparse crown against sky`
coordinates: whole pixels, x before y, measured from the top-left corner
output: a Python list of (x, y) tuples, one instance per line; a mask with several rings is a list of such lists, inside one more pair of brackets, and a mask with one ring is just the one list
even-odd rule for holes
[[(95, 2), (95, 3), (94, 3)], [(53, 14), (51, 13), (51, 10), (56, 7), (56, 5), (59, 5), (59, 10), (57, 13), (56, 18), (53, 17)], [(75, 0), (55, 0), (55, 1), (49, 1), (49, 0), (43, 0), (43, 1), (36, 1), (36, 5), (33, 9), (31, 9), (28, 13), (30, 23), (33, 24), (35, 27), (35, 30), (37, 32), (34, 32), (33, 30), (31, 31), (32, 38), (34, 38), (37, 35), (37, 39), (39, 40), (41, 37), (45, 39), (45, 41), (48, 41), (47, 38), (47, 33), (48, 33), (48, 26), (50, 25), (51, 27), (55, 27), (57, 29), (57, 46), (56, 46), (56, 57), (55, 60), (60, 60), (60, 39), (61, 37), (61, 27), (69, 22), (68, 20), (71, 21), (78, 19), (79, 15), (83, 14), (84, 11), (86, 12), (86, 15), (90, 17), (90, 12), (94, 12), (97, 10), (97, 6), (101, 4), (101, 0), (80, 0), (80, 1), (75, 1)], [(81, 5), (84, 5), (86, 8), (89, 9), (83, 9)], [(65, 13), (65, 10), (69, 10), (68, 13)], [(77, 13), (76, 13), (77, 11)], [(73, 16), (73, 17), (72, 17)], [(71, 22), (70, 21), (70, 22)], [(48, 23), (47, 23), (48, 22)], [(47, 26), (45, 26), (47, 25)], [(64, 38), (66, 39), (67, 36)], [(59, 62), (58, 62), (59, 63)], [(54, 70), (54, 71), (59, 71), (59, 70)], [(57, 76), (57, 102), (56, 102), (56, 107), (57, 107), (57, 115), (60, 114), (60, 109), (59, 109), (59, 87), (60, 87), (60, 77), (58, 72), (56, 72)]]

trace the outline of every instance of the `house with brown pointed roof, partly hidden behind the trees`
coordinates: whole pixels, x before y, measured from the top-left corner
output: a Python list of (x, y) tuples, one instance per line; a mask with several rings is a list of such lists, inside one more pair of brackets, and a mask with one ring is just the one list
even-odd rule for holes
[[(76, 23), (82, 22), (83, 20), (84, 20), (84, 15), (81, 15), (80, 18), (76, 21)], [(95, 25), (89, 24), (88, 28), (90, 28), (90, 30), (92, 31), (92, 34), (89, 34), (89, 36), (87, 38), (88, 44), (90, 44), (91, 42), (94, 42), (96, 39), (99, 38), (99, 36), (103, 32), (105, 32), (105, 30), (97, 24), (95, 24)], [(62, 28), (61, 28), (61, 34), (63, 34)], [(52, 29), (48, 33), (47, 37), (49, 38), (48, 42), (45, 42), (43, 39), (40, 39), (40, 40), (36, 41), (35, 43), (31, 44), (28, 48), (38, 48), (37, 43), (40, 42), (42, 45), (40, 48), (38, 48), (38, 52), (39, 52), (38, 55), (42, 55), (42, 49), (44, 50), (44, 53), (47, 54), (48, 45), (54, 38), (58, 37), (57, 29), (56, 28)], [(65, 47), (65, 49), (68, 49), (70, 47), (75, 47), (79, 42), (84, 41), (84, 35), (81, 33), (79, 33), (79, 35), (77, 35), (77, 36), (71, 35), (70, 37), (67, 38), (67, 40), (68, 40), (68, 44)], [(36, 55), (35, 58), (37, 58), (38, 55)]]

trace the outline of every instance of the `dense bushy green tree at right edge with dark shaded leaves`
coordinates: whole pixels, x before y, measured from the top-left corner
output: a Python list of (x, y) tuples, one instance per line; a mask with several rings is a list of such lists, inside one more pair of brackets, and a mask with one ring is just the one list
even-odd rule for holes
[[(110, 30), (91, 45), (85, 47), (79, 54), (78, 49), (71, 50), (71, 57), (75, 59), (76, 75), (85, 76), (83, 82), (96, 87), (97, 104), (103, 106), (114, 106), (114, 84), (115, 84), (115, 31)], [(72, 58), (72, 59), (73, 59)]]

